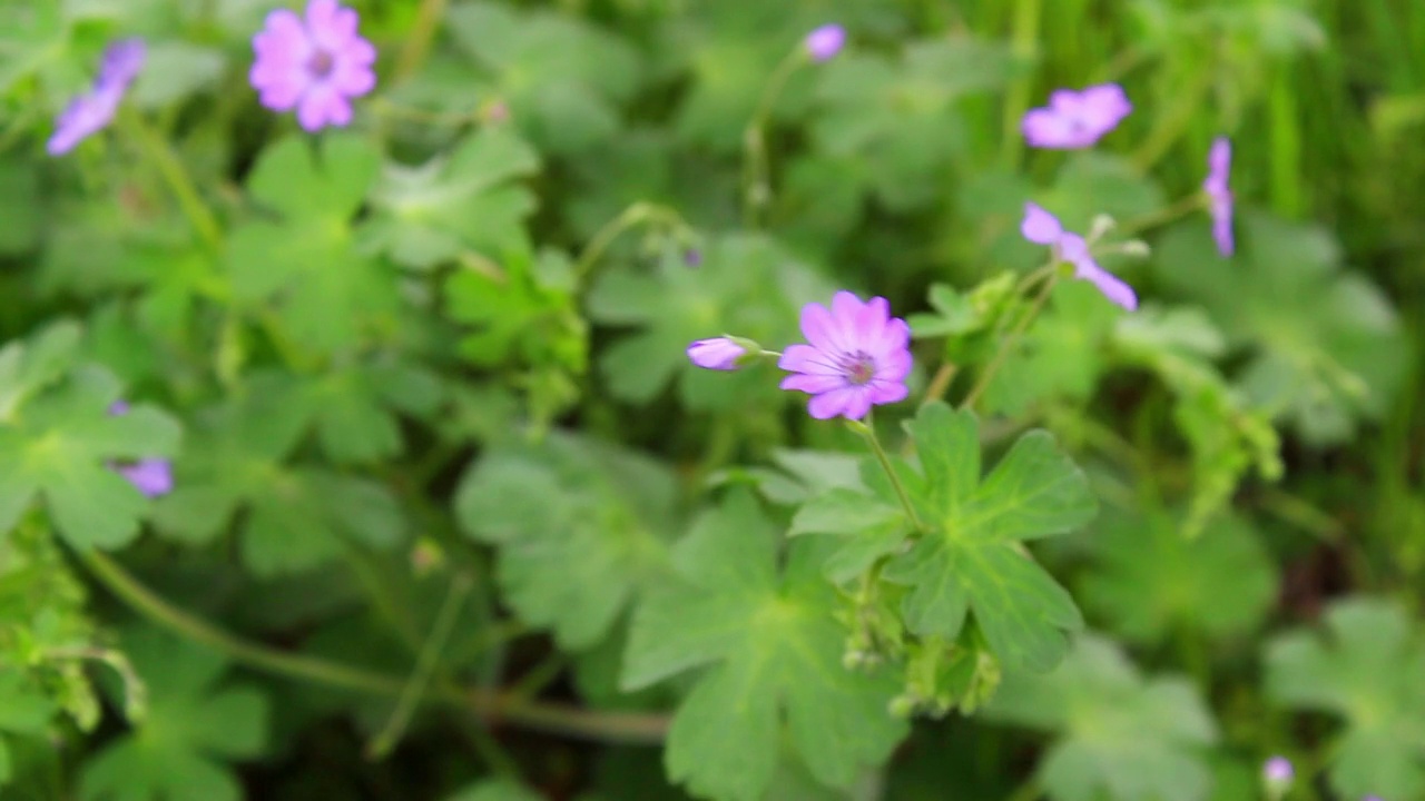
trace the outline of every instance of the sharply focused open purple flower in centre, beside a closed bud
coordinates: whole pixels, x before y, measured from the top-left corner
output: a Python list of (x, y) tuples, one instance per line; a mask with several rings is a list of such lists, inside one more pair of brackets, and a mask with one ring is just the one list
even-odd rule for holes
[(807, 304), (801, 328), (809, 343), (787, 348), (777, 366), (795, 373), (782, 379), (782, 389), (812, 395), (811, 416), (859, 420), (872, 405), (905, 400), (911, 326), (891, 316), (885, 298), (861, 302), (836, 292), (829, 311)]

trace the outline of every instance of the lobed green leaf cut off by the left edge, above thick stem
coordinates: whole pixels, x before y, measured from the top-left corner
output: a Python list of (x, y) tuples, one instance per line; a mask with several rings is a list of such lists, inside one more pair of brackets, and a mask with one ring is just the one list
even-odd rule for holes
[(41, 495), (70, 544), (113, 549), (138, 534), (150, 506), (113, 463), (171, 456), (180, 428), (145, 405), (111, 415), (118, 379), (94, 365), (68, 369), (76, 336), (61, 324), (0, 351), (0, 534)]

